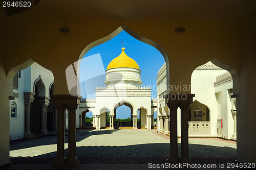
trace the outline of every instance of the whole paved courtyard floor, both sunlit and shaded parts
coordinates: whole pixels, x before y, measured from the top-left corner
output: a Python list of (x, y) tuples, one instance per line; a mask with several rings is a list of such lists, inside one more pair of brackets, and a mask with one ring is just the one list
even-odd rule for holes
[[(65, 141), (67, 157), (68, 136)], [(178, 142), (180, 151), (180, 139)], [(236, 147), (236, 142), (232, 141), (189, 138), (189, 155), (194, 163), (201, 165), (217, 164), (219, 167), (220, 163), (234, 162)], [(80, 161), (78, 169), (149, 169), (148, 163), (166, 163), (169, 138), (156, 130), (78, 130), (76, 153)], [(13, 165), (7, 169), (51, 169), (55, 156), (54, 135), (12, 141), (10, 160)]]

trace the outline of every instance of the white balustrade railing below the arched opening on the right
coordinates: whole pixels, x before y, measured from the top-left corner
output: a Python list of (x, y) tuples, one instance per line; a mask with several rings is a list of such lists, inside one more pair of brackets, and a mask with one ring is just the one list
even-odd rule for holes
[(188, 134), (210, 134), (210, 122), (188, 122)]

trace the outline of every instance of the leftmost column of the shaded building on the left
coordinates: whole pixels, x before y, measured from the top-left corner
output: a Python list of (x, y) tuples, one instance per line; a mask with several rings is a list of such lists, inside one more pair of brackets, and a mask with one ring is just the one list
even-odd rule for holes
[(24, 101), (25, 101), (25, 135), (24, 138), (33, 138), (33, 135), (30, 131), (30, 106), (34, 100), (35, 93), (24, 92)]

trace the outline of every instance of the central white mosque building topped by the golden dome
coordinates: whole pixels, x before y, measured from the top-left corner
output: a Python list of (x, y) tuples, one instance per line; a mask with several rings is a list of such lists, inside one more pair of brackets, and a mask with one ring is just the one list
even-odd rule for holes
[[(122, 53), (114, 58), (106, 68), (105, 87), (96, 87), (95, 99), (82, 100), (79, 105), (77, 119), (84, 127), (86, 112), (92, 111), (96, 129), (108, 127), (109, 112), (110, 129), (115, 128), (116, 109), (125, 105), (131, 109), (133, 129), (153, 127), (153, 114), (156, 111), (156, 102), (151, 99), (150, 87), (141, 87), (141, 70), (136, 61)], [(139, 111), (139, 117), (138, 117)], [(137, 124), (137, 118), (140, 124)]]

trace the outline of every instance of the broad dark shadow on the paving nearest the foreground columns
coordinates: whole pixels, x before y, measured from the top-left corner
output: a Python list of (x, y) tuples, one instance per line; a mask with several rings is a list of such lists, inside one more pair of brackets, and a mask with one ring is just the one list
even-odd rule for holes
[[(180, 150), (180, 143), (178, 144)], [(76, 148), (80, 166), (88, 164), (164, 164), (169, 156), (169, 143), (146, 143), (122, 146), (81, 146)], [(216, 147), (202, 144), (189, 144), (191, 160), (196, 164), (232, 163), (236, 159), (236, 149), (230, 147)], [(68, 156), (68, 149), (65, 150)], [(179, 153), (180, 155), (180, 153)], [(13, 164), (51, 164), (56, 152), (34, 157), (11, 157)]]

